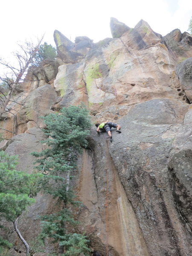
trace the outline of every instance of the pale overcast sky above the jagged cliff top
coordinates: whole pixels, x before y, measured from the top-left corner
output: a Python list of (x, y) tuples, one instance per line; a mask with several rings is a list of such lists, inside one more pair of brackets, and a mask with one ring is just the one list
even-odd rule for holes
[(44, 35), (55, 46), (55, 29), (74, 41), (86, 35), (93, 42), (111, 37), (110, 17), (129, 27), (141, 19), (166, 35), (173, 29), (185, 32), (192, 16), (192, 0), (1, 0), (0, 57), (10, 57), (17, 41)]

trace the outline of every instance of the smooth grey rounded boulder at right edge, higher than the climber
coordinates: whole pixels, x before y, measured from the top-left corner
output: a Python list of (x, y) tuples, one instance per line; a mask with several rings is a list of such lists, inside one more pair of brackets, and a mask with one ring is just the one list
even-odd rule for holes
[(187, 99), (192, 103), (192, 58), (182, 61), (175, 67), (182, 89), (185, 92)]

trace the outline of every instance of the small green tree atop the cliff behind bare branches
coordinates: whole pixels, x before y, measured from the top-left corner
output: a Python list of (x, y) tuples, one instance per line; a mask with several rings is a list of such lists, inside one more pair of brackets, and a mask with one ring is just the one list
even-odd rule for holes
[(35, 55), (34, 58), (34, 64), (35, 66), (38, 66), (41, 61), (43, 61), (46, 58), (50, 58), (52, 60), (55, 60), (56, 58), (56, 49), (55, 47), (52, 47), (51, 44), (47, 44), (46, 42), (44, 44), (41, 44), (38, 52)]

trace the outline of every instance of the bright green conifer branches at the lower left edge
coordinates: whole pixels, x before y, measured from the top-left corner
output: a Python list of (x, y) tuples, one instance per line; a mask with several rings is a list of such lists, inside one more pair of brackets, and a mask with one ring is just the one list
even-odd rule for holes
[(34, 186), (42, 176), (16, 171), (17, 160), (17, 156), (0, 151), (0, 218), (8, 221), (14, 221), (28, 205), (34, 203), (30, 196), (37, 192)]

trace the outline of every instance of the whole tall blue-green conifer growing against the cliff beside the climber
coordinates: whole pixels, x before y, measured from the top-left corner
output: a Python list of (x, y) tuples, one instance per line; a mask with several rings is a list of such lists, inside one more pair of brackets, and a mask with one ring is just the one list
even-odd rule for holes
[[(73, 191), (65, 174), (76, 168), (77, 153), (81, 153), (82, 147), (87, 147), (87, 136), (91, 128), (88, 111), (81, 104), (62, 108), (59, 113), (50, 113), (43, 119), (47, 125), (43, 131), (48, 138), (42, 143), (46, 143), (47, 148), (32, 154), (37, 157), (36, 169), (45, 174), (44, 191), (65, 206), (77, 204), (79, 202), (74, 201)], [(64, 256), (76, 256), (89, 251), (84, 235), (68, 232), (68, 227), (73, 227), (78, 222), (67, 207), (57, 213), (42, 216), (41, 220), (41, 239), (49, 237), (52, 242), (64, 246)]]

